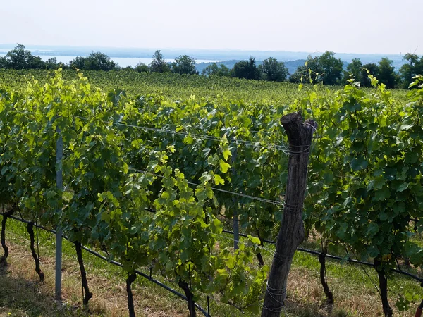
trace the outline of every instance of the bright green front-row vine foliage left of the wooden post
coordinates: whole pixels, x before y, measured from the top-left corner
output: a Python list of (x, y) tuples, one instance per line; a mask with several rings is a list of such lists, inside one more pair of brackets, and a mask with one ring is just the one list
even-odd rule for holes
[[(223, 119), (230, 105), (217, 116)], [(212, 186), (230, 180), (231, 151), (220, 136), (222, 121), (210, 120), (214, 110), (194, 98), (175, 104), (129, 99), (120, 89), (104, 94), (93, 91), (82, 74), (63, 80), (60, 70), (22, 94), (2, 90), (1, 202), (18, 206), (24, 218), (60, 226), (73, 240), (106, 248), (129, 273), (152, 266), (168, 279), (190, 280), (197, 297), (219, 292), (226, 302), (257, 310), (268, 269), (253, 263), (259, 240), (238, 252), (216, 243), (223, 200)], [(229, 118), (238, 120), (232, 111)], [(181, 131), (190, 129), (189, 121), (195, 129), (208, 126), (221, 142), (190, 135), (163, 140), (157, 132), (133, 128), (177, 123)], [(60, 164), (58, 130), (66, 144)], [(59, 166), (63, 191), (55, 184)]]

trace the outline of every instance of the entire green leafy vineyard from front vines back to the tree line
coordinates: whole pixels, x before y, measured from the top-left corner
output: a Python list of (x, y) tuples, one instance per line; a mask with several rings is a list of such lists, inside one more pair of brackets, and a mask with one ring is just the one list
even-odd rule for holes
[[(215, 316), (206, 299), (251, 316), (279, 316), (286, 288), (267, 282), (280, 256), (269, 242), (295, 212), (317, 248), (329, 303), (337, 294), (326, 282), (326, 255), (335, 254), (374, 266), (385, 316), (393, 306), (414, 313), (422, 297), (423, 77), (396, 92), (370, 77), (372, 89), (353, 81), (328, 89), (1, 70), (0, 261), (8, 257), (7, 219), (18, 217), (27, 220), (40, 281), (34, 226), (73, 242), (85, 305), (93, 294), (82, 247), (121, 264), (130, 316), (140, 270), (178, 287), (190, 316), (196, 303)], [(317, 123), (311, 144), (290, 144), (281, 125), (288, 113)], [(285, 199), (290, 158), (305, 155), (302, 208)], [(389, 298), (392, 271), (409, 272), (415, 289)], [(264, 305), (265, 294), (276, 297), (274, 306)]]

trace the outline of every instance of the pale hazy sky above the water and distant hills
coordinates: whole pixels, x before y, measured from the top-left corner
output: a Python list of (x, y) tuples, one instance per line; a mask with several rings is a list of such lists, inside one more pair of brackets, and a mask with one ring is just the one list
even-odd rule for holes
[(422, 0), (0, 0), (0, 44), (423, 54)]

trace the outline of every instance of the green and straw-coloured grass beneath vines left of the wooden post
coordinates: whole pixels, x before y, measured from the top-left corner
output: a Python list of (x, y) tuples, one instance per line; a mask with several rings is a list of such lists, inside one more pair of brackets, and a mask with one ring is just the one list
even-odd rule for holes
[[(0, 316), (127, 316), (125, 275), (121, 268), (83, 252), (88, 284), (94, 297), (82, 309), (82, 285), (73, 244), (63, 240), (63, 305), (54, 301), (54, 235), (39, 230), (41, 268), (46, 278), (38, 282), (25, 225), (8, 220), (7, 266), (1, 271)], [(185, 304), (159, 286), (140, 277), (133, 292), (137, 316), (185, 316)], [(11, 315), (8, 315), (11, 313)]]

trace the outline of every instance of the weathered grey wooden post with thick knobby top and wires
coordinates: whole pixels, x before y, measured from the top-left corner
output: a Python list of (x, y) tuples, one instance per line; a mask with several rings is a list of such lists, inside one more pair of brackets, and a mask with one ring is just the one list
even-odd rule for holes
[(302, 222), (307, 165), (312, 137), (317, 129), (314, 120), (306, 120), (300, 113), (289, 113), (281, 118), (289, 142), (288, 182), (283, 208), (281, 228), (276, 241), (276, 251), (271, 264), (262, 317), (281, 316), (283, 301), (286, 298), (286, 282), (295, 249), (304, 239)]

